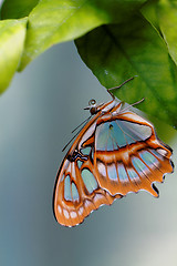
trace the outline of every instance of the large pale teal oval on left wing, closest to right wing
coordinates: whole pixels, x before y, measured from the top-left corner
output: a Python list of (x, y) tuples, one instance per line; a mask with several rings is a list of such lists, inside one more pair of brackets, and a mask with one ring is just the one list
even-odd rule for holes
[(84, 185), (86, 187), (86, 190), (88, 191), (88, 193), (92, 193), (93, 191), (95, 191), (97, 188), (97, 182), (94, 177), (94, 175), (87, 170), (84, 168), (81, 173)]

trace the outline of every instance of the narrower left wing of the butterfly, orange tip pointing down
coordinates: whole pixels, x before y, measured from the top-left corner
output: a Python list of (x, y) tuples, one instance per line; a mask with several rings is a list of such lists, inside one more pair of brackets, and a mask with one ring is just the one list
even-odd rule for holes
[[(58, 172), (53, 209), (56, 221), (74, 226), (101, 205), (111, 205), (115, 197), (101, 188), (93, 165), (95, 115), (79, 134)], [(116, 198), (122, 197), (116, 195)]]

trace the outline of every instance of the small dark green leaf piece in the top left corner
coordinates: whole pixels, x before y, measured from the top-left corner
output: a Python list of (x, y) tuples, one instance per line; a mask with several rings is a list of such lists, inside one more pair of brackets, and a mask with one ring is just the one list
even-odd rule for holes
[(39, 0), (4, 0), (1, 19), (20, 19), (29, 16)]

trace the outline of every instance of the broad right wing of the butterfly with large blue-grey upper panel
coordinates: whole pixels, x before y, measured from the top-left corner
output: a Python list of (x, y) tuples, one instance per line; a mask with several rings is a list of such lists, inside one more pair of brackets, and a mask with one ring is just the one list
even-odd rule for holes
[(98, 184), (112, 196), (145, 190), (154, 196), (154, 182), (173, 172), (171, 150), (154, 126), (133, 112), (111, 112), (97, 120), (94, 165)]

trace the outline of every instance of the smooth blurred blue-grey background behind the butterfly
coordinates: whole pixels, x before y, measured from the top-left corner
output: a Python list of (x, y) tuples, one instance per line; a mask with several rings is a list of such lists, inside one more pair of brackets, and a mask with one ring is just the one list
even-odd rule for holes
[[(55, 222), (52, 194), (61, 151), (87, 117), (83, 108), (93, 98), (110, 100), (72, 42), (46, 51), (1, 95), (0, 265), (177, 265), (175, 173), (157, 184), (158, 200), (129, 194), (74, 228)], [(159, 135), (164, 126), (157, 123)], [(175, 162), (177, 134), (167, 127), (163, 140), (173, 146)]]

